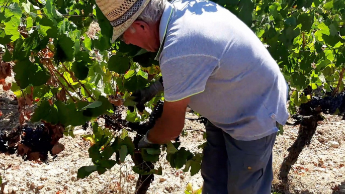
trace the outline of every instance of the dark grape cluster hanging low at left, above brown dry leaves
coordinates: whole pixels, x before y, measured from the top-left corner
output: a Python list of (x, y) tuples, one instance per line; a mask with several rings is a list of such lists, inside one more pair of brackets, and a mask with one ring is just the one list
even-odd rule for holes
[(45, 125), (42, 123), (33, 129), (32, 127), (23, 127), (21, 143), (28, 146), (32, 152), (42, 152), (48, 154), (51, 150), (52, 138)]

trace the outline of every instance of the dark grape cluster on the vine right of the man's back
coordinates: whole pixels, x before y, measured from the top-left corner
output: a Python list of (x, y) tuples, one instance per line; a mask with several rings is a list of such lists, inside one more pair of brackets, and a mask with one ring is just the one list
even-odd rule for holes
[(319, 112), (324, 114), (333, 114), (336, 110), (339, 110), (339, 113), (345, 111), (345, 93), (341, 92), (335, 96), (313, 96), (311, 101), (308, 103), (302, 104), (300, 106), (301, 110), (315, 110), (319, 109)]

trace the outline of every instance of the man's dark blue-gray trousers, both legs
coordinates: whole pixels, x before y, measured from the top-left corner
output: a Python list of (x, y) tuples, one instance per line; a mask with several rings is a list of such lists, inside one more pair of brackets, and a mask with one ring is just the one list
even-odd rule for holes
[(203, 194), (271, 194), (272, 148), (276, 133), (254, 141), (238, 141), (206, 125), (201, 175)]

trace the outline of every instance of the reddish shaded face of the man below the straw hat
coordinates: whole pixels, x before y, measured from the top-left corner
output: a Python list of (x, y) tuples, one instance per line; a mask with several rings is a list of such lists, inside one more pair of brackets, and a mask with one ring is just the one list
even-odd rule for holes
[(159, 32), (156, 25), (143, 21), (135, 21), (122, 35), (121, 40), (126, 44), (133, 44), (150, 52), (159, 49)]

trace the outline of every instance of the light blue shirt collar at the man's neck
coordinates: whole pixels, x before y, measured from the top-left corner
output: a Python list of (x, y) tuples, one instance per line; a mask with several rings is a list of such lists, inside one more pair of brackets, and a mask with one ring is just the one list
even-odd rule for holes
[(162, 14), (162, 17), (160, 18), (160, 23), (159, 23), (159, 42), (160, 42), (160, 47), (157, 53), (157, 56), (154, 58), (155, 60), (159, 59), (159, 55), (162, 52), (163, 49), (163, 41), (165, 38), (167, 26), (169, 24), (172, 11), (174, 11), (174, 7), (169, 2), (166, 2), (164, 12)]

